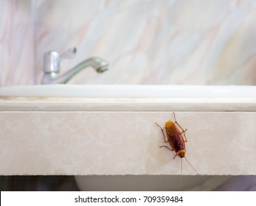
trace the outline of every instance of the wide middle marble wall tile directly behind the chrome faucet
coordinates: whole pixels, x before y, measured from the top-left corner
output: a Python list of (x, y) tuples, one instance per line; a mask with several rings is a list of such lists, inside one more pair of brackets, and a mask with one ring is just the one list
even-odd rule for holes
[(36, 9), (38, 82), (44, 52), (77, 46), (77, 56), (63, 60), (62, 71), (94, 56), (111, 66), (100, 75), (86, 69), (71, 83), (156, 83), (154, 74), (165, 68), (165, 7), (163, 0), (41, 1)]

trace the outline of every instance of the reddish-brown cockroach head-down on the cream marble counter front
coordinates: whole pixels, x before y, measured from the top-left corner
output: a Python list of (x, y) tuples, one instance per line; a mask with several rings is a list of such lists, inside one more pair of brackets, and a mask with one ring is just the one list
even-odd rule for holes
[[(176, 116), (174, 112), (173, 112), (173, 116), (175, 121), (174, 122), (170, 120), (166, 121), (164, 128), (162, 128), (159, 124), (155, 122), (156, 125), (160, 127), (160, 129), (162, 130), (162, 135), (164, 136), (165, 143), (170, 144), (170, 147), (169, 146), (159, 146), (159, 147), (160, 148), (165, 147), (170, 151), (175, 152), (176, 154), (173, 157), (173, 159), (175, 159), (176, 156), (181, 157), (181, 159), (184, 157), (187, 163), (191, 166), (191, 168), (193, 168), (193, 170), (196, 171), (196, 169), (190, 164), (190, 162), (185, 157), (185, 154), (186, 154), (185, 143), (187, 142), (187, 137), (185, 132), (187, 131), (187, 129), (183, 129), (179, 125), (179, 123), (176, 121)], [(165, 136), (165, 133), (166, 133), (166, 136)], [(196, 171), (196, 173), (201, 177), (201, 174), (199, 174), (198, 171)], [(182, 175), (182, 160), (181, 160), (181, 175)]]

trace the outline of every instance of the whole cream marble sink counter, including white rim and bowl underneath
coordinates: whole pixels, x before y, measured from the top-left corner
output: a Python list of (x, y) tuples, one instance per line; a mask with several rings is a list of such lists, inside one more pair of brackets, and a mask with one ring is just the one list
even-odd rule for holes
[(212, 189), (256, 174), (255, 110), (255, 86), (3, 87), (0, 173), (76, 175), (83, 190), (179, 190), (180, 158), (159, 149), (155, 124), (175, 112), (186, 157), (207, 175), (183, 161), (183, 188)]

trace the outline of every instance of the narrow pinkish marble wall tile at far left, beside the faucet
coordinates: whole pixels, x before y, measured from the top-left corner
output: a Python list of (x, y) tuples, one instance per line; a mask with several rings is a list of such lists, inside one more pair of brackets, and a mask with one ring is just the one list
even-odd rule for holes
[(31, 0), (0, 0), (0, 86), (34, 84)]

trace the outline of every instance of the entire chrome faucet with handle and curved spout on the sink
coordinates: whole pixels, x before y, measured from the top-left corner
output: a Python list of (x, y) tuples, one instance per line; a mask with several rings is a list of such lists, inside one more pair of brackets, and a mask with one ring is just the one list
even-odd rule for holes
[(68, 49), (63, 54), (59, 54), (57, 51), (46, 52), (44, 54), (44, 77), (41, 82), (42, 85), (66, 84), (75, 74), (87, 67), (94, 68), (98, 73), (108, 70), (108, 63), (105, 60), (100, 57), (92, 57), (71, 68), (65, 74), (59, 75), (60, 60), (75, 57), (76, 52), (77, 49), (75, 47)]

